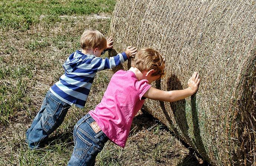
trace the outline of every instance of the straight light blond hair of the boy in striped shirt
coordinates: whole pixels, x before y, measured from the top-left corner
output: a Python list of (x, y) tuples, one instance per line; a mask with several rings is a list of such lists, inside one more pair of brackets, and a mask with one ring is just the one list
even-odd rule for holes
[(80, 38), (80, 45), (83, 50), (106, 48), (106, 38), (98, 30), (85, 30)]

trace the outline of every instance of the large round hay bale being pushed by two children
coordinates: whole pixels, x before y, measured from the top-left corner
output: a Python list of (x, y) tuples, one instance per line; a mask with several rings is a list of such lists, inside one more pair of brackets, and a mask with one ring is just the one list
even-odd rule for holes
[(110, 35), (116, 52), (132, 45), (165, 56), (158, 89), (184, 89), (200, 73), (195, 95), (147, 100), (149, 113), (213, 165), (255, 165), (255, 0), (118, 0)]

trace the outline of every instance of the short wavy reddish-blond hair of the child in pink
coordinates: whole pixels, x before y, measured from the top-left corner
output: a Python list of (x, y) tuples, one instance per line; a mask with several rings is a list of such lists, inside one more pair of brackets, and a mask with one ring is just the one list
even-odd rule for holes
[(152, 76), (164, 75), (163, 56), (152, 48), (142, 48), (131, 60), (131, 66), (139, 69), (141, 72), (154, 69)]

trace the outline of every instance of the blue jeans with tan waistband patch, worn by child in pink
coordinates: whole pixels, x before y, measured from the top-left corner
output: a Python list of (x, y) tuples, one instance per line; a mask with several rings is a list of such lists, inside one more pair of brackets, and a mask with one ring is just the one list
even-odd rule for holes
[[(95, 126), (96, 125), (96, 126)], [(81, 118), (74, 127), (74, 150), (68, 166), (94, 166), (108, 137), (98, 128), (90, 114)]]

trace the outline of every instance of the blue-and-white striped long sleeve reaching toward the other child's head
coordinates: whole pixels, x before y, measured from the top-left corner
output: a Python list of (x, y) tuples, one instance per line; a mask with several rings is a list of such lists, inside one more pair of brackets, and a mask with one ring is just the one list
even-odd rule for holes
[(120, 65), (121, 63), (124, 63), (125, 60), (127, 60), (127, 55), (125, 52), (118, 53), (116, 56), (102, 59), (100, 57), (95, 57), (91, 61), (91, 68), (92, 70), (96, 70), (97, 72), (105, 69), (111, 69), (115, 66)]

